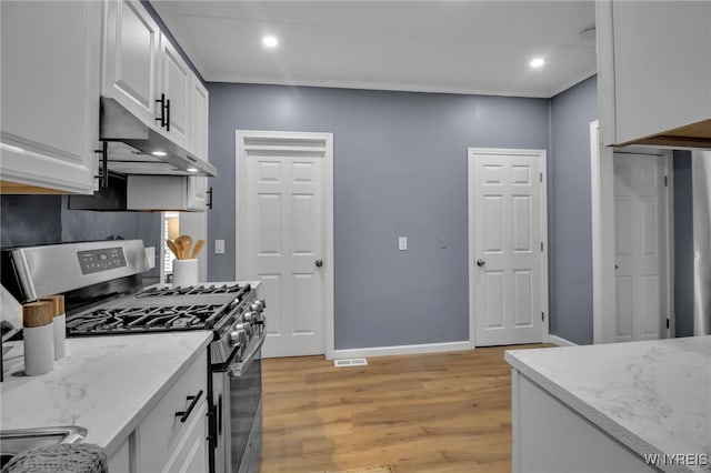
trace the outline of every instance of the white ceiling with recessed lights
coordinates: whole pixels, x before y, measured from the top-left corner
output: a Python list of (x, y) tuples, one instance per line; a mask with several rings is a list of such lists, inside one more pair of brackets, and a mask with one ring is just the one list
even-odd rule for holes
[(151, 4), (206, 81), (549, 98), (597, 70), (592, 0)]

